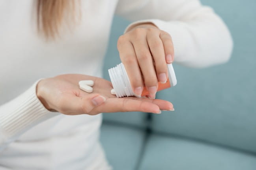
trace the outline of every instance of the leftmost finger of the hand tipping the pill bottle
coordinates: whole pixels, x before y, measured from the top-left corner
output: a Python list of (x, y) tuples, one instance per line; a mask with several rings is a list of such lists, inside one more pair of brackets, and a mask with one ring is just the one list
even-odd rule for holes
[(133, 44), (127, 41), (125, 37), (121, 36), (118, 39), (118, 51), (131, 82), (131, 86), (133, 87), (133, 91), (140, 97), (143, 90), (143, 81)]

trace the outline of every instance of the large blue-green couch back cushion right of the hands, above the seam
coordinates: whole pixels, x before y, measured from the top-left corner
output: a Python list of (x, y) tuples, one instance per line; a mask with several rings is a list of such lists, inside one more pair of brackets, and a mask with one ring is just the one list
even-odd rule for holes
[(174, 65), (177, 86), (157, 97), (173, 102), (175, 112), (154, 115), (153, 128), (256, 152), (256, 3), (202, 2), (228, 24), (235, 43), (232, 58), (206, 69)]

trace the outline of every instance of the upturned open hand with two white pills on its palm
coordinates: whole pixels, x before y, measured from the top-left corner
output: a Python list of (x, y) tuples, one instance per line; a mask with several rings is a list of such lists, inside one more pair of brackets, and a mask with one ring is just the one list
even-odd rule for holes
[[(80, 80), (93, 80), (93, 92), (86, 93), (79, 89)], [(111, 82), (98, 77), (80, 74), (59, 75), (43, 79), (37, 84), (37, 97), (45, 108), (66, 115), (102, 112), (151, 112), (173, 110), (172, 103), (158, 99), (137, 97), (117, 98), (112, 95)]]

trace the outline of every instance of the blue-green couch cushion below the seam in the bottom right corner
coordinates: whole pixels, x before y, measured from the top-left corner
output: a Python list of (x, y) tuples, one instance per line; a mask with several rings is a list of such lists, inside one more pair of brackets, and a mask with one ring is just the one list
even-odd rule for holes
[(139, 170), (255, 170), (256, 156), (196, 141), (152, 135)]

